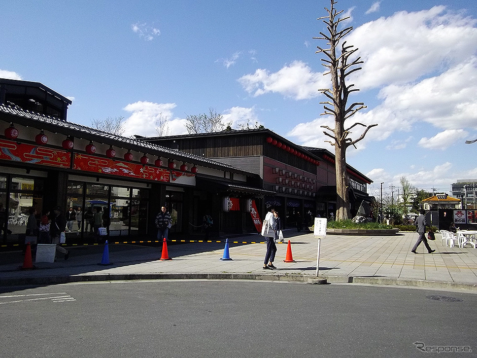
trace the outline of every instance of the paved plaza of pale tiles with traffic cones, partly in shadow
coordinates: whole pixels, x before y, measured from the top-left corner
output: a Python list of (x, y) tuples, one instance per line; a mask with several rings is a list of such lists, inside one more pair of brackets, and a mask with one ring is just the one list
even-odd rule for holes
[[(162, 245), (141, 246), (138, 241), (111, 243), (107, 247), (109, 265), (101, 265), (104, 245), (71, 246), (67, 261), (33, 262), (35, 268), (22, 270), (20, 251), (0, 253), (0, 286), (53, 284), (91, 280), (131, 279), (255, 279), (304, 281), (316, 278), (318, 240), (312, 233), (285, 230), (285, 240), (295, 262), (283, 262), (288, 244), (277, 244), (275, 270), (263, 270), (266, 251), (260, 235), (205, 242), (170, 241), (168, 256), (160, 260)], [(436, 252), (427, 253), (423, 244), (418, 253), (410, 252), (417, 233), (403, 232), (395, 236), (328, 235), (321, 239), (319, 276), (328, 283), (364, 283), (382, 285), (464, 288), (477, 290), (477, 250), (445, 247), (441, 235), (430, 242)], [(261, 243), (262, 241), (262, 243)]]

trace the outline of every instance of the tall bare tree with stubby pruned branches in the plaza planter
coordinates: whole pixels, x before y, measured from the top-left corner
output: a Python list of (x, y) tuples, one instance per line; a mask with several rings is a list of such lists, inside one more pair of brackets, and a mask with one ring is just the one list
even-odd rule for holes
[[(320, 102), (324, 104), (323, 108), (325, 109), (324, 113), (321, 115), (332, 115), (335, 119), (335, 128), (330, 128), (328, 126), (321, 126), (325, 128), (328, 133), (323, 131), (323, 133), (331, 137), (333, 141), (327, 141), (331, 145), (335, 146), (335, 160), (336, 160), (336, 191), (337, 191), (337, 219), (347, 219), (350, 216), (349, 211), (349, 179), (346, 173), (346, 149), (348, 146), (353, 145), (356, 147), (356, 143), (361, 141), (365, 136), (368, 130), (371, 127), (377, 126), (377, 124), (372, 124), (366, 126), (363, 123), (354, 123), (348, 128), (345, 128), (345, 121), (349, 119), (353, 114), (355, 114), (360, 109), (366, 108), (363, 103), (355, 102), (350, 106), (347, 106), (348, 96), (350, 93), (359, 91), (359, 89), (353, 89), (354, 84), (346, 84), (346, 77), (351, 73), (361, 70), (361, 67), (357, 67), (359, 64), (362, 64), (363, 61), (360, 61), (360, 57), (352, 59), (353, 54), (358, 50), (357, 48), (353, 49), (352, 45), (346, 45), (346, 41), (341, 44), (341, 53), (337, 57), (337, 52), (340, 51), (338, 48), (340, 41), (344, 36), (348, 35), (353, 28), (347, 27), (342, 30), (339, 30), (340, 24), (342, 21), (348, 19), (349, 17), (340, 18), (339, 15), (343, 12), (337, 11), (335, 9), (336, 0), (331, 0), (331, 8), (328, 9), (325, 7), (325, 10), (328, 12), (328, 16), (320, 17), (318, 20), (323, 20), (326, 24), (326, 28), (329, 34), (324, 34), (320, 32), (321, 37), (313, 37), (319, 40), (326, 40), (329, 48), (322, 48), (317, 46), (318, 51), (315, 53), (322, 53), (326, 55), (326, 58), (321, 59), (323, 62), (322, 65), (329, 69), (325, 74), (331, 75), (331, 89), (320, 89), (319, 91), (328, 97), (328, 101)], [(352, 133), (351, 129), (356, 126), (365, 127), (364, 132), (356, 140), (348, 138)]]

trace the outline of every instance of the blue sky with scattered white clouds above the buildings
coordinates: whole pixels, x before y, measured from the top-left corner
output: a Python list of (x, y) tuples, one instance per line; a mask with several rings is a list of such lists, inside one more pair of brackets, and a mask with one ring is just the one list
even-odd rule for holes
[[(324, 141), (330, 86), (313, 39), (329, 0), (0, 0), (0, 77), (41, 82), (73, 104), (68, 120), (124, 117), (125, 135), (185, 134), (185, 117), (215, 108), (297, 144)], [(348, 120), (377, 123), (347, 162), (390, 192), (405, 176), (449, 192), (477, 179), (477, 4), (471, 0), (339, 0), (365, 63), (350, 81)], [(360, 131), (351, 138), (359, 137)]]

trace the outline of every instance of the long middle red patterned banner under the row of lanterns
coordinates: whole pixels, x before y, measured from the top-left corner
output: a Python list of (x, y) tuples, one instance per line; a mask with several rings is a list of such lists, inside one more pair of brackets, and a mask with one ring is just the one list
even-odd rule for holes
[(98, 158), (87, 154), (74, 155), (73, 169), (129, 178), (170, 181), (170, 172), (166, 169), (122, 160)]

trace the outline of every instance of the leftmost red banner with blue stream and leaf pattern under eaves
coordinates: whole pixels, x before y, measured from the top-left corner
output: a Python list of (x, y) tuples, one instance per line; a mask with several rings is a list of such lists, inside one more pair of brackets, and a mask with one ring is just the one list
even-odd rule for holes
[(0, 159), (69, 168), (71, 153), (65, 150), (0, 140)]

